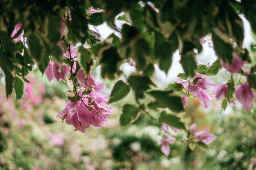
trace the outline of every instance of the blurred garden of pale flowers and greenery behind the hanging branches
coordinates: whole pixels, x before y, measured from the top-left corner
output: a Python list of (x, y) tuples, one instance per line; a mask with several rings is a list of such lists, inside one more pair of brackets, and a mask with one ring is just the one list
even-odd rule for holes
[[(226, 74), (221, 70), (212, 79), (222, 81)], [(54, 119), (67, 103), (66, 82), (48, 82), (36, 68), (28, 79), (20, 101), (15, 95), (6, 99), (5, 86), (0, 86), (0, 169), (255, 169), (256, 115), (245, 112), (238, 102), (224, 112), (221, 101), (212, 100), (206, 110), (197, 100), (189, 100), (182, 113), (189, 120), (184, 122), (196, 122), (198, 130), (208, 128), (218, 137), (209, 149), (194, 151), (176, 141), (165, 157), (157, 144), (163, 131), (154, 119), (140, 114), (132, 125), (119, 126), (122, 106), (134, 100), (131, 92), (113, 104), (109, 123), (83, 134)], [(104, 83), (104, 93), (110, 93), (114, 82)]]

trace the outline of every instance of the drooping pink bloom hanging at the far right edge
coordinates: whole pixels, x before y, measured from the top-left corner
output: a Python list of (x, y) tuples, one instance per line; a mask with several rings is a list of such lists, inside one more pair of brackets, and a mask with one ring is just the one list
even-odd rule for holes
[(236, 96), (238, 101), (248, 111), (253, 105), (253, 93), (248, 83), (243, 83), (236, 86)]

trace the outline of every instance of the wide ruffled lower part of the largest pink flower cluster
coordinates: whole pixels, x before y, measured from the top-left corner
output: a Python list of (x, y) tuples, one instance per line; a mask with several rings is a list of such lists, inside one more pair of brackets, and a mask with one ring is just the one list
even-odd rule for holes
[(112, 106), (107, 104), (108, 95), (103, 95), (100, 91), (91, 91), (89, 94), (82, 95), (83, 90), (83, 87), (78, 89), (80, 99), (78, 97), (76, 102), (69, 102), (55, 118), (66, 119), (66, 123), (73, 125), (75, 131), (85, 133), (90, 125), (102, 127), (104, 122), (109, 121), (113, 110)]

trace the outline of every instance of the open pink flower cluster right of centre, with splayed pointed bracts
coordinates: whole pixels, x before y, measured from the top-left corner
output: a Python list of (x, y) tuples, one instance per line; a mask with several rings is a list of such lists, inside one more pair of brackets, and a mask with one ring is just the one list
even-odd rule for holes
[(182, 95), (184, 106), (186, 105), (187, 96), (189, 94), (193, 94), (197, 97), (197, 99), (205, 108), (209, 107), (210, 99), (212, 99), (213, 96), (209, 95), (207, 93), (207, 90), (214, 89), (214, 87), (216, 86), (215, 82), (204, 78), (204, 75), (202, 74), (197, 74), (193, 78), (192, 82), (181, 78), (176, 78), (176, 82), (182, 84), (182, 86), (186, 90), (186, 94)]

